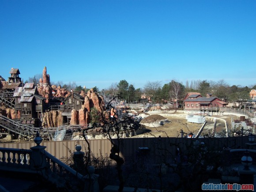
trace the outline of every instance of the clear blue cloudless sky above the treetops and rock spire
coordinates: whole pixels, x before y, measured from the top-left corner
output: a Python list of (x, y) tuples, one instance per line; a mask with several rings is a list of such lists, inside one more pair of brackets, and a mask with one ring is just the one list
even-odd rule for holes
[(256, 84), (256, 0), (0, 0), (0, 75)]

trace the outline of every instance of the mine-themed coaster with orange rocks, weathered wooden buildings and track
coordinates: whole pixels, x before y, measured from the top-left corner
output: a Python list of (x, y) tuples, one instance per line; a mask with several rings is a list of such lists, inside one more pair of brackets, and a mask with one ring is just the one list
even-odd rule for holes
[[(30, 140), (39, 132), (44, 140), (71, 140), (73, 132), (92, 128), (92, 108), (109, 120), (112, 112), (118, 120), (128, 115), (124, 102), (118, 97), (99, 96), (93, 90), (84, 95), (73, 90), (54, 90), (46, 67), (37, 85), (23, 83), (19, 75), (19, 69), (11, 68), (8, 80), (0, 84), (1, 138)], [(65, 95), (57, 97), (56, 93), (64, 91), (67, 92)], [(100, 124), (97, 124), (98, 127)], [(139, 127), (138, 121), (126, 120), (120, 124), (120, 132), (131, 136)]]

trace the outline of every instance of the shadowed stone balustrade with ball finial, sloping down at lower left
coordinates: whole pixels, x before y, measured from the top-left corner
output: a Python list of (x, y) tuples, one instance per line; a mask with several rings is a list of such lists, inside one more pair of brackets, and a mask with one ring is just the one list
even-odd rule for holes
[(83, 190), (83, 175), (45, 151), (46, 147), (40, 145), (41, 140), (37, 134), (34, 139), (37, 145), (30, 150), (0, 148), (0, 170), (36, 173), (59, 188), (72, 188), (72, 191)]

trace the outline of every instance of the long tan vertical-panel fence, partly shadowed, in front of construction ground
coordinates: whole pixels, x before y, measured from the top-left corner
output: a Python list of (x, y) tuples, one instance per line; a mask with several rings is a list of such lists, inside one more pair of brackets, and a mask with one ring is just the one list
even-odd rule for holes
[[(229, 138), (200, 138), (199, 143), (203, 142), (211, 150), (222, 150), (223, 147), (229, 147), (230, 149), (246, 148), (248, 142), (248, 136), (241, 137), (229, 137)], [(118, 144), (117, 139), (113, 141)], [(155, 161), (163, 158), (165, 160), (172, 161), (175, 157), (177, 147), (182, 152), (186, 152), (189, 146), (193, 145), (195, 140), (189, 138), (126, 138), (119, 139), (120, 143), (120, 156), (124, 157), (125, 161), (131, 160), (138, 154), (139, 147), (148, 147), (149, 154)], [(93, 139), (89, 140), (91, 152), (97, 156), (100, 153), (105, 156), (109, 156), (111, 150), (111, 143), (108, 139)], [(69, 158), (72, 153), (75, 152), (75, 145), (81, 145), (83, 152), (87, 151), (87, 143), (85, 140), (77, 141), (47, 141), (42, 142), (41, 145), (46, 146), (46, 151), (60, 159), (63, 157)], [(34, 147), (34, 142), (27, 143), (0, 143), (0, 147), (15, 148), (15, 149), (30, 149)]]

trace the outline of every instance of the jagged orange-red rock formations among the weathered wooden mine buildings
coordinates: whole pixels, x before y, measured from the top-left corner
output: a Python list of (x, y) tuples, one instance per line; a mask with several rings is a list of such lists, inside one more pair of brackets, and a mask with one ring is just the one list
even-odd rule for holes
[[(0, 77), (0, 85), (6, 83), (6, 81)], [(51, 85), (50, 75), (47, 74), (46, 67), (43, 69), (42, 78), (39, 80), (37, 85), (38, 94), (46, 98), (45, 102), (49, 103), (50, 98), (66, 98), (69, 94), (72, 94), (69, 90), (56, 85)], [(105, 116), (108, 114), (104, 108), (104, 98), (94, 93), (93, 90), (88, 90), (87, 93), (81, 91), (80, 95), (84, 97), (84, 104), (79, 111), (72, 109), (70, 124), (89, 124), (90, 123), (90, 110), (92, 107), (98, 110), (98, 113), (104, 113)], [(15, 119), (15, 110), (6, 108), (4, 105), (0, 106), (0, 114)], [(46, 111), (41, 117), (43, 127), (58, 127), (63, 124), (62, 112), (60, 110)]]

